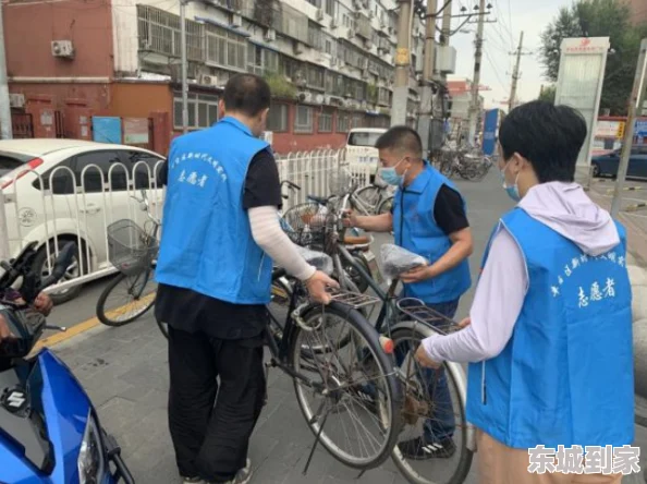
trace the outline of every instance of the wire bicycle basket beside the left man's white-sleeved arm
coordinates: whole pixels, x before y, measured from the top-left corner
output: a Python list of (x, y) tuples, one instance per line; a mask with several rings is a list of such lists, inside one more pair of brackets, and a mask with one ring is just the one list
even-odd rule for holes
[(321, 249), (326, 234), (326, 214), (316, 203), (295, 205), (283, 214), (283, 230), (303, 247)]

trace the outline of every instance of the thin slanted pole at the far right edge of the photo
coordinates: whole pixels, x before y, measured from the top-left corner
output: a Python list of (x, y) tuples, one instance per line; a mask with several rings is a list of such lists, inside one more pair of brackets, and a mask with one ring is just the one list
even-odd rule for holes
[(632, 144), (634, 143), (634, 129), (636, 124), (636, 111), (643, 111), (647, 88), (647, 38), (640, 43), (640, 55), (638, 56), (638, 65), (636, 76), (634, 77), (634, 88), (630, 98), (628, 112), (626, 117), (626, 126), (624, 129), (624, 140), (622, 141), (622, 154), (620, 155), (620, 166), (618, 167), (618, 179), (615, 180), (615, 190), (613, 192), (613, 202), (611, 203), (611, 217), (617, 218), (622, 204), (622, 186), (626, 178)]

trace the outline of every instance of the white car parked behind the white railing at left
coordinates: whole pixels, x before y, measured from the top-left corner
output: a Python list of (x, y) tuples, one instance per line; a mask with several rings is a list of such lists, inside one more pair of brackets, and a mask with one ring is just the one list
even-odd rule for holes
[[(45, 276), (57, 249), (75, 242), (81, 250), (68, 279), (85, 276), (89, 280), (88, 275), (109, 271), (107, 227), (123, 218), (144, 223), (132, 196), (146, 190), (150, 201), (161, 201), (156, 180), (163, 160), (156, 153), (125, 145), (57, 138), (0, 141), (0, 186), (11, 254), (38, 242), (37, 267)], [(155, 209), (161, 209), (161, 203)], [(69, 301), (81, 287), (62, 289), (52, 299)]]

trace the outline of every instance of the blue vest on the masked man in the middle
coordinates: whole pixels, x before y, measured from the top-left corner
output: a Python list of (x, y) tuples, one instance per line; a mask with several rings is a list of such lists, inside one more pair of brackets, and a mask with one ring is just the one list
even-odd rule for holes
[[(434, 264), (449, 251), (452, 243), (434, 218), (438, 191), (454, 184), (425, 161), (425, 169), (406, 187), (398, 189), (393, 197), (393, 232), (395, 243)], [(450, 302), (463, 295), (472, 286), (469, 264), (465, 259), (438, 277), (404, 285), (404, 297), (426, 303)]]

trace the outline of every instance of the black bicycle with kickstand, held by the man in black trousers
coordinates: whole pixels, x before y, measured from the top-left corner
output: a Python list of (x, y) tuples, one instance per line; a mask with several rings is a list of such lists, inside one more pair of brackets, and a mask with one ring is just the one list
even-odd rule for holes
[[(327, 264), (321, 264), (322, 254), (313, 254), (315, 255), (306, 257), (307, 262), (318, 269), (325, 269), (324, 266)], [(284, 269), (277, 268), (272, 274), (272, 281), (285, 276)], [(375, 468), (389, 458), (401, 427), (398, 412), (401, 394), (392, 359), (383, 349), (388, 346), (382, 346), (378, 334), (358, 311), (373, 304), (375, 300), (363, 294), (333, 291), (332, 302), (326, 306), (309, 302), (300, 303), (297, 294), (305, 289), (300, 281), (295, 281), (294, 285), (296, 290), (290, 294), (284, 323), (281, 324), (279, 318), (270, 313), (266, 340), (271, 358), (266, 371), (278, 367), (293, 379), (297, 403), (315, 434), (315, 445), (304, 473), (319, 441), (335, 459), (351, 468)], [(332, 318), (338, 320), (332, 323)], [(344, 339), (343, 344), (331, 339), (332, 335), (329, 331), (331, 328), (339, 328), (340, 324), (349, 326), (350, 336)], [(272, 330), (272, 325), (280, 330)], [(351, 361), (338, 354), (337, 350), (340, 349), (349, 350), (347, 356)], [(357, 373), (362, 376), (354, 377)], [(370, 408), (361, 397), (362, 386), (367, 384), (375, 386), (378, 396)], [(320, 402), (308, 401), (306, 394), (310, 390), (321, 398)], [(352, 413), (355, 410), (359, 410), (361, 415), (353, 418)], [(344, 416), (349, 416), (349, 423), (343, 422)], [(338, 441), (332, 431), (325, 431), (325, 426), (334, 418), (342, 421), (339, 438), (343, 443)], [(352, 438), (349, 435), (353, 429), (359, 434), (361, 431), (368, 432), (371, 428), (377, 432), (378, 437), (374, 435), (368, 443), (362, 437)], [(358, 451), (342, 448), (343, 444), (349, 444), (350, 447), (357, 444), (355, 448)]]

